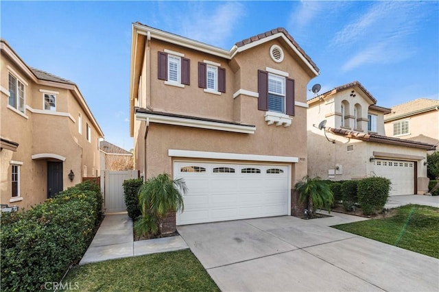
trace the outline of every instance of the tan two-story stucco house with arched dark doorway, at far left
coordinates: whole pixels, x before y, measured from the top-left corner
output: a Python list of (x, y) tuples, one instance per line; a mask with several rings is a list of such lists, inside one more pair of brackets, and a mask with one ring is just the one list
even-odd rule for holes
[(0, 49), (1, 204), (28, 208), (99, 175), (104, 134), (76, 84)]

